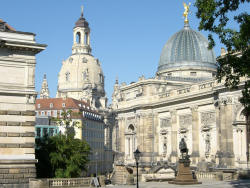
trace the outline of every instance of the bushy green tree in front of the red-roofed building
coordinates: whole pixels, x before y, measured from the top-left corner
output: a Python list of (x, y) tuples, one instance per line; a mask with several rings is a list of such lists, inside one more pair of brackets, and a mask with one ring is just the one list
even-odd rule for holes
[(65, 126), (65, 134), (36, 140), (38, 177), (79, 177), (86, 170), (90, 147), (85, 140), (74, 138), (78, 123), (71, 117), (72, 111), (64, 111), (62, 119), (54, 120)]

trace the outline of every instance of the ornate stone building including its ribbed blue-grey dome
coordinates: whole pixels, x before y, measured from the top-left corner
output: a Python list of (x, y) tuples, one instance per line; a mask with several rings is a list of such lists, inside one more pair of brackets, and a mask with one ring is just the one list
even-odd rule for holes
[[(186, 30), (198, 36), (187, 27), (185, 25), (173, 37)], [(175, 166), (180, 156), (181, 138), (189, 148), (191, 166), (197, 170), (247, 168), (249, 143), (243, 106), (239, 102), (245, 79), (242, 78), (239, 89), (234, 91), (225, 88), (224, 81), (218, 83), (214, 78), (216, 69), (211, 66), (216, 61), (213, 52), (206, 52), (204, 39), (198, 40), (204, 47), (200, 62), (188, 56), (188, 53), (195, 53), (192, 50), (196, 47), (187, 43), (183, 44), (187, 49), (178, 48), (179, 44), (189, 41), (190, 36), (183, 34), (182, 38), (172, 37), (167, 42), (154, 78), (142, 76), (129, 85), (119, 85), (116, 81), (112, 96), (112, 108), (116, 113), (113, 149), (119, 174), (122, 166), (126, 174), (126, 169), (135, 165), (133, 152), (136, 148), (142, 152), (143, 173), (149, 173), (159, 162)], [(179, 42), (172, 44), (171, 41)], [(174, 46), (173, 53), (171, 46)], [(211, 62), (204, 60), (206, 56)], [(196, 67), (192, 68), (193, 65)], [(197, 68), (198, 65), (202, 68)], [(124, 183), (124, 180), (116, 183)]]

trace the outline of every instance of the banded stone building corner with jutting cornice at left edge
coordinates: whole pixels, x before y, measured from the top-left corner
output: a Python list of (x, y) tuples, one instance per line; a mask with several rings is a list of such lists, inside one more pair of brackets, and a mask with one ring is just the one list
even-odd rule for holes
[(0, 20), (0, 184), (36, 177), (35, 55), (45, 47)]

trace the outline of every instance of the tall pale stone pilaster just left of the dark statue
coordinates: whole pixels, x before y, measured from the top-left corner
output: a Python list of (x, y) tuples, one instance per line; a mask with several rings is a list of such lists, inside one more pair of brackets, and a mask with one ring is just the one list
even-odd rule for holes
[(171, 125), (172, 125), (172, 130), (171, 130), (171, 147), (172, 147), (172, 152), (170, 154), (170, 159), (172, 163), (176, 163), (177, 161), (177, 112), (176, 110), (170, 111), (171, 114)]

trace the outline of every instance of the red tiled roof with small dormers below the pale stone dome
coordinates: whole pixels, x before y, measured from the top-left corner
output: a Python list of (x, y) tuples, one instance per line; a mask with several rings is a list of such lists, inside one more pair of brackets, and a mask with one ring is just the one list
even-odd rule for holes
[[(53, 107), (50, 107), (51, 103), (53, 104)], [(63, 103), (65, 104), (65, 107), (62, 105)], [(38, 108), (38, 104), (40, 104), (40, 108)], [(85, 101), (79, 101), (73, 98), (36, 99), (36, 110), (63, 110), (80, 108), (83, 108), (85, 111), (96, 113)]]

